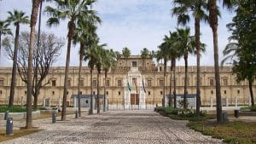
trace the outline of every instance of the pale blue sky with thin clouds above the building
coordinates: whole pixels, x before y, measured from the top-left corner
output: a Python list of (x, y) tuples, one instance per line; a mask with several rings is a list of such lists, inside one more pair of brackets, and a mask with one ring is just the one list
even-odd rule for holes
[[(44, 3), (44, 6), (50, 4)], [(101, 42), (107, 43), (109, 49), (121, 51), (124, 47), (128, 47), (132, 55), (140, 55), (143, 48), (157, 50), (164, 35), (177, 28), (176, 17), (172, 17), (171, 14), (172, 7), (172, 0), (98, 0), (93, 6), (102, 19), (97, 33)], [(31, 8), (31, 0), (3, 0), (0, 2), (0, 20), (6, 19), (7, 11), (13, 11), (13, 9), (25, 11), (30, 15)], [(230, 12), (224, 9), (221, 11), (222, 18), (218, 22), (219, 60), (223, 59), (222, 51), (230, 36), (226, 24), (230, 23), (233, 17)], [(46, 26), (46, 20), (47, 14), (43, 14), (43, 31), (67, 38), (67, 21), (61, 21), (60, 26), (49, 28)], [(191, 35), (193, 35), (193, 19), (188, 26), (191, 27)], [(20, 29), (29, 31), (29, 26), (21, 26)], [(213, 66), (212, 30), (203, 22), (201, 23), (201, 42), (207, 43), (207, 52), (201, 56), (201, 65)], [(66, 49), (67, 46), (61, 50), (55, 66), (65, 66)], [(79, 66), (78, 55), (78, 46), (73, 46), (71, 66)], [(183, 59), (178, 61), (178, 65), (183, 65)], [(189, 65), (196, 65), (195, 56), (189, 55)], [(4, 51), (1, 52), (0, 66), (12, 66), (12, 61), (7, 59)]]

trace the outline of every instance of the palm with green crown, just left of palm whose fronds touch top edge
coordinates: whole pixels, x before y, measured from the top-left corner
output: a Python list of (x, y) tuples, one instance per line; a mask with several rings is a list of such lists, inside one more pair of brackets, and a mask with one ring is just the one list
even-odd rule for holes
[(179, 40), (179, 51), (183, 55), (185, 61), (185, 78), (184, 78), (184, 97), (183, 108), (187, 108), (187, 95), (188, 95), (188, 56), (195, 51), (195, 37), (190, 36), (190, 29), (177, 28), (177, 35)]

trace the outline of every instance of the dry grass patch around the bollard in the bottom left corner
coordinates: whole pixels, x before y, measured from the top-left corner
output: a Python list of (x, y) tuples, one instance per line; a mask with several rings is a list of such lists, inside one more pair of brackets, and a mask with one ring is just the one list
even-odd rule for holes
[(41, 131), (40, 129), (20, 129), (20, 130), (14, 130), (14, 135), (5, 135), (5, 130), (0, 130), (0, 142), (8, 141), (11, 139), (15, 139), (20, 136), (30, 135), (32, 133)]

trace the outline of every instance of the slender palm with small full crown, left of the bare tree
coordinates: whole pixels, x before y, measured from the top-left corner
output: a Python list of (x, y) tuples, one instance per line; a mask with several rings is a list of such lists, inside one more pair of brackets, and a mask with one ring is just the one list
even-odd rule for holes
[(17, 70), (17, 55), (18, 55), (18, 47), (19, 47), (20, 24), (27, 24), (28, 16), (26, 16), (24, 12), (18, 11), (18, 10), (14, 10), (14, 13), (10, 11), (8, 13), (9, 13), (9, 17), (7, 18), (7, 21), (9, 23), (14, 23), (14, 25), (16, 26), (14, 62), (13, 62), (13, 70), (12, 70), (11, 89), (9, 94), (9, 106), (13, 106), (14, 97), (15, 97), (15, 86), (16, 86), (16, 70)]

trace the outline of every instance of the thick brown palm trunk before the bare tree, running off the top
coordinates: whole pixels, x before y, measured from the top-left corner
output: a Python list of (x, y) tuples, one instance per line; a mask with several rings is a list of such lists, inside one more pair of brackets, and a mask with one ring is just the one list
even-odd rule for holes
[(28, 49), (27, 66), (27, 97), (26, 97), (26, 129), (32, 128), (32, 71), (33, 71), (33, 43), (35, 39), (35, 26), (38, 18), (40, 0), (32, 1), (30, 42)]

